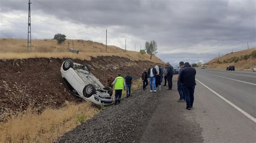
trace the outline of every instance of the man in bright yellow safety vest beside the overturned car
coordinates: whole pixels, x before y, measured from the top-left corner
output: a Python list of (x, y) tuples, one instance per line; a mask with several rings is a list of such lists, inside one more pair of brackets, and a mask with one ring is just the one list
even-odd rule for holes
[(121, 96), (122, 96), (122, 91), (125, 89), (125, 81), (124, 78), (121, 76), (121, 74), (117, 74), (117, 77), (114, 79), (112, 85), (114, 85), (114, 105), (117, 105), (120, 103)]

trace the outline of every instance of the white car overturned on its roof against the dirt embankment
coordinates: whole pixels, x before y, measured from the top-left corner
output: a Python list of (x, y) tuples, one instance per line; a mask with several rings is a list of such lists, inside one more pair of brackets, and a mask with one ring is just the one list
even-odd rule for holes
[(80, 65), (68, 59), (60, 68), (63, 80), (73, 94), (98, 105), (113, 104), (112, 88), (104, 87), (90, 72), (89, 65)]

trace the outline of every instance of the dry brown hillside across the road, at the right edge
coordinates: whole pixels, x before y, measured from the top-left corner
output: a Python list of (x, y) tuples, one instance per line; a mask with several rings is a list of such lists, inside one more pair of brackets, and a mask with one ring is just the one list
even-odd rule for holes
[(251, 70), (256, 67), (256, 48), (214, 58), (206, 63), (206, 68), (225, 69), (228, 65), (234, 65), (238, 70)]

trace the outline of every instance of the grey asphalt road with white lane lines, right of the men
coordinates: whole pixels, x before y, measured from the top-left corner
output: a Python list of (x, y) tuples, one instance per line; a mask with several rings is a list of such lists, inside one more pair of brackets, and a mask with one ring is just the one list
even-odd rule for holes
[(197, 69), (196, 78), (194, 115), (187, 118), (200, 124), (204, 141), (256, 142), (256, 73)]

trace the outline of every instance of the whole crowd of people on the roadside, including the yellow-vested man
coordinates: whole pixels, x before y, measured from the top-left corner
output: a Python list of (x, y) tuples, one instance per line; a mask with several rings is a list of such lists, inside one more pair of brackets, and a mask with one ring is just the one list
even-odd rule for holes
[[(186, 109), (191, 110), (193, 108), (194, 102), (194, 88), (196, 85), (196, 69), (192, 68), (188, 62), (179, 62), (178, 69), (178, 80), (177, 80), (177, 89), (179, 92), (180, 98), (178, 102), (186, 102)], [(142, 73), (143, 81), (143, 90), (146, 90), (147, 85), (150, 84), (150, 92), (157, 92), (157, 88), (161, 90), (161, 83), (164, 78), (164, 85), (168, 83), (168, 88), (166, 90), (172, 90), (172, 77), (173, 77), (173, 67), (169, 62), (165, 63), (165, 67), (162, 68), (160, 65), (151, 65), (149, 69), (144, 69)], [(150, 83), (149, 83), (150, 82)], [(132, 76), (130, 73), (127, 73), (125, 78), (121, 74), (117, 74), (117, 77), (114, 78), (110, 74), (109, 79), (107, 80), (107, 86), (114, 86), (115, 90), (115, 105), (120, 103), (123, 89), (126, 87), (126, 98), (131, 96), (131, 87), (132, 87)]]

